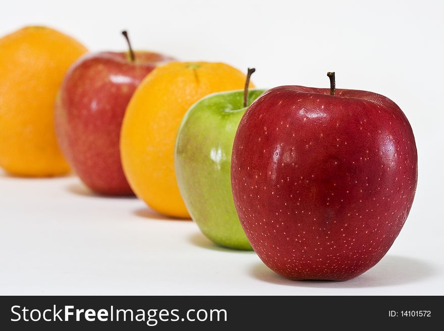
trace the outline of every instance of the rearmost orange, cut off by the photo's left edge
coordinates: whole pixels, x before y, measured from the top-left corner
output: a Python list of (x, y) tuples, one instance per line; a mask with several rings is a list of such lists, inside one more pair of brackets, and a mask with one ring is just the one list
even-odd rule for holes
[(0, 167), (7, 172), (69, 172), (55, 140), (54, 102), (71, 63), (86, 51), (46, 27), (25, 27), (0, 39)]

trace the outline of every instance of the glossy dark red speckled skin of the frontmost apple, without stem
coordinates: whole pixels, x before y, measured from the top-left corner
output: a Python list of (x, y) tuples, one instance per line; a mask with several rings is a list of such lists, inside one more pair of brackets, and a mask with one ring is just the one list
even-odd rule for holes
[(415, 139), (384, 96), (276, 87), (243, 116), (231, 175), (241, 224), (270, 269), (344, 281), (374, 266), (403, 227), (416, 190)]

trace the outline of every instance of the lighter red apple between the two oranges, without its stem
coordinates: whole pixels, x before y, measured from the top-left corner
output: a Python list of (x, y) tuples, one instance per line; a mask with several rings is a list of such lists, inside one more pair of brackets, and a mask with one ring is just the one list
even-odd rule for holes
[(133, 194), (120, 160), (120, 129), (139, 83), (171, 57), (151, 52), (101, 52), (68, 71), (55, 104), (55, 131), (70, 166), (93, 191)]

